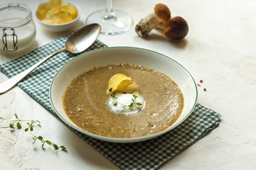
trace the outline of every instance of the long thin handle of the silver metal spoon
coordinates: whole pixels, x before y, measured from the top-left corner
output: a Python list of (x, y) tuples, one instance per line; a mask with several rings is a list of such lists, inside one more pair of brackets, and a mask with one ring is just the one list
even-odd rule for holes
[(7, 79), (4, 82), (0, 83), (0, 94), (4, 94), (6, 91), (9, 91), (14, 85), (18, 84), (19, 81), (21, 81), (24, 77), (26, 77), (30, 72), (32, 72), (36, 67), (38, 67), (43, 62), (46, 62), (50, 59), (50, 57), (53, 57), (54, 55), (58, 55), (60, 52), (66, 51), (65, 49), (59, 50), (57, 52), (54, 52), (51, 55), (48, 55), (46, 58), (41, 60), (40, 62), (37, 62), (36, 64), (33, 64), (33, 66), (29, 67), (28, 69), (24, 70), (23, 72), (15, 75), (14, 77), (11, 77), (10, 79)]

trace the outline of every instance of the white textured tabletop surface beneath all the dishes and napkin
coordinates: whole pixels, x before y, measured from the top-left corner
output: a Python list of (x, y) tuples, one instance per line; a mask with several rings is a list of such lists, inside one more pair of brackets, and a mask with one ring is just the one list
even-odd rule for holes
[[(11, 0), (12, 1), (12, 0)], [(71, 1), (71, 0), (70, 0)], [(2, 0), (4, 2), (10, 2)], [(43, 1), (24, 0), (34, 13)], [(81, 8), (80, 28), (92, 11), (105, 8), (105, 0), (73, 0)], [(139, 38), (134, 26), (153, 11), (158, 2), (173, 16), (188, 21), (185, 40), (172, 42), (158, 31)], [(172, 57), (183, 64), (199, 82), (198, 103), (222, 114), (220, 126), (188, 147), (160, 169), (255, 169), (256, 166), (256, 3), (238, 1), (113, 1), (114, 8), (130, 13), (134, 26), (122, 35), (100, 35), (108, 46), (144, 47)], [(35, 22), (36, 23), (36, 22)], [(23, 52), (9, 56), (0, 53), (0, 64), (26, 54), (67, 33), (49, 33), (36, 23), (36, 41)], [(0, 81), (6, 77), (0, 73)], [(203, 91), (206, 88), (207, 91)], [(14, 113), (23, 119), (41, 120), (36, 135), (42, 135), (68, 152), (55, 152), (33, 140), (28, 132), (8, 127)], [(1, 169), (118, 169), (99, 152), (71, 132), (55, 115), (25, 92), (15, 87), (0, 96)]]

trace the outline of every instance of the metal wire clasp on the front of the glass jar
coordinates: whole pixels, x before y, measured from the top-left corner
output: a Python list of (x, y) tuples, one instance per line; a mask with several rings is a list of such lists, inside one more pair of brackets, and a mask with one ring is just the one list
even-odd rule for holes
[(4, 51), (16, 51), (18, 50), (17, 42), (18, 37), (15, 33), (14, 28), (4, 28), (2, 41), (4, 43)]

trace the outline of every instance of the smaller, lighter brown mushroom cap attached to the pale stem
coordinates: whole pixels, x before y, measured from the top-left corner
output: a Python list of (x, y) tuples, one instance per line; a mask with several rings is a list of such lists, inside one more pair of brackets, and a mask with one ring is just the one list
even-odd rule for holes
[(164, 23), (168, 22), (171, 18), (171, 11), (164, 4), (156, 4), (154, 7), (154, 13), (156, 14), (157, 18)]

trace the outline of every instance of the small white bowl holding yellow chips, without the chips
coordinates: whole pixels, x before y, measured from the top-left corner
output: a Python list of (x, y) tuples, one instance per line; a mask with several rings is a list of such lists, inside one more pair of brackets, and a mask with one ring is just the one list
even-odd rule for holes
[(70, 3), (69, 4), (75, 6), (75, 8), (78, 11), (78, 16), (77, 18), (75, 18), (73, 21), (70, 21), (69, 23), (62, 23), (62, 24), (50, 24), (50, 23), (43, 23), (37, 16), (36, 14), (36, 20), (38, 21), (38, 23), (40, 23), (41, 27), (49, 30), (51, 32), (60, 32), (60, 31), (64, 31), (64, 30), (68, 30), (70, 28), (73, 28), (75, 26), (75, 24), (78, 23), (80, 15), (81, 15), (81, 11), (79, 6), (77, 6), (76, 4)]

